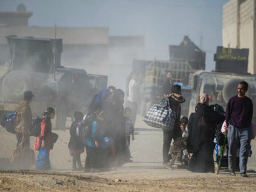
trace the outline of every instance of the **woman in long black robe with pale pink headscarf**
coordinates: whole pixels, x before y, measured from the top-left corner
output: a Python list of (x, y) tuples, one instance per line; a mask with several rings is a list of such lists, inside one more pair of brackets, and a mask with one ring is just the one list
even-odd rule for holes
[(190, 129), (187, 141), (188, 152), (193, 152), (188, 169), (193, 172), (214, 172), (213, 150), (217, 124), (224, 116), (209, 106), (208, 94), (200, 96), (200, 103), (193, 117), (193, 129)]

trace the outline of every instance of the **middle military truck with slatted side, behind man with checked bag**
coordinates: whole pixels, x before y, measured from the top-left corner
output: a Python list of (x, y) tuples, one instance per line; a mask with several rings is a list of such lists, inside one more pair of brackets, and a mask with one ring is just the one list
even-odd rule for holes
[(205, 52), (185, 36), (179, 45), (169, 46), (169, 56), (169, 61), (133, 60), (132, 71), (140, 74), (140, 85), (143, 85), (141, 116), (146, 114), (152, 104), (163, 99), (162, 85), (166, 79), (166, 71), (172, 71), (174, 84), (182, 87), (182, 94), (187, 99), (182, 105), (182, 115), (187, 116), (191, 95), (188, 79), (197, 69), (205, 69)]

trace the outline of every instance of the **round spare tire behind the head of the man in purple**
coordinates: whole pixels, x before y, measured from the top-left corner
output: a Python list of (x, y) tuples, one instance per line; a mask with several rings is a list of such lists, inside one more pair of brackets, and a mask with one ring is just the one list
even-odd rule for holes
[[(224, 85), (224, 87), (222, 89), (222, 97), (223, 97), (224, 101), (226, 102), (226, 104), (227, 104), (227, 102), (229, 102), (230, 98), (237, 95), (237, 86), (240, 82), (241, 82), (241, 79), (231, 79), (227, 82), (227, 84)], [(248, 87), (246, 96), (250, 95), (249, 87)]]

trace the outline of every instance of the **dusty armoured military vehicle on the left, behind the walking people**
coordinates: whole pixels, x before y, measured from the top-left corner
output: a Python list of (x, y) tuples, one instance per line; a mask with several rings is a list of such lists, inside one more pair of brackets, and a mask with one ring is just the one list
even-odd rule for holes
[(60, 65), (62, 39), (9, 36), (7, 41), (10, 63), (0, 73), (1, 114), (15, 110), (23, 92), (31, 90), (33, 116), (55, 107), (56, 127), (63, 129), (66, 117), (76, 110), (85, 113), (93, 94), (107, 87), (107, 76)]

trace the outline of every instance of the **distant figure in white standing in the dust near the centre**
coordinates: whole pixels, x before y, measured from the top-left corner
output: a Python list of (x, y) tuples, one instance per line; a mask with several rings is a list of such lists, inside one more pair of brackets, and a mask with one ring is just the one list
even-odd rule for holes
[(132, 123), (135, 124), (136, 116), (137, 116), (137, 102), (139, 97), (139, 87), (137, 82), (138, 76), (137, 74), (132, 74), (132, 79), (129, 82), (129, 95), (127, 99), (127, 107), (132, 109)]

